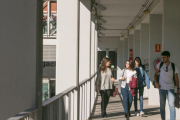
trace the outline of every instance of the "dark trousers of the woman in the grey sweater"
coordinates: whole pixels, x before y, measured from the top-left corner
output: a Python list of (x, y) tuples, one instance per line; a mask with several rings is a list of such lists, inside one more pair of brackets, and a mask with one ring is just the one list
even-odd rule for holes
[(105, 114), (110, 98), (110, 90), (100, 90), (100, 94), (101, 94), (101, 112), (102, 114)]

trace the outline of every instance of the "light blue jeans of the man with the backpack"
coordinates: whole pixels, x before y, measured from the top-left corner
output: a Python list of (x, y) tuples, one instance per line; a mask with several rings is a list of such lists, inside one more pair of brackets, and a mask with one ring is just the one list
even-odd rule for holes
[(165, 120), (165, 106), (166, 106), (166, 96), (168, 98), (169, 109), (170, 109), (170, 120), (176, 119), (176, 109), (174, 106), (175, 101), (175, 92), (174, 89), (171, 90), (159, 90), (160, 95), (160, 112), (161, 112), (161, 119)]

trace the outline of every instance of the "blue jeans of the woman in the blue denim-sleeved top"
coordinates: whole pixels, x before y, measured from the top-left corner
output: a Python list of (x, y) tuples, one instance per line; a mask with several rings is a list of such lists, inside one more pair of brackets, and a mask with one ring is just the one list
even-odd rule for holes
[(140, 102), (140, 112), (143, 111), (143, 93), (144, 93), (144, 87), (136, 88), (135, 90), (135, 96), (134, 96), (134, 108), (135, 112), (138, 111), (137, 109), (137, 93), (139, 90), (139, 102)]

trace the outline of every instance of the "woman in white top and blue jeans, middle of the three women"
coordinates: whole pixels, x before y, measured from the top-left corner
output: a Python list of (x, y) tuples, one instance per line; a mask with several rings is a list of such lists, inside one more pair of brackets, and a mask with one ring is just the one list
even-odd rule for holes
[(121, 94), (123, 97), (123, 107), (125, 117), (128, 120), (131, 117), (130, 109), (133, 101), (133, 96), (130, 92), (129, 82), (132, 81), (132, 77), (137, 78), (136, 71), (134, 70), (134, 62), (126, 61), (125, 68), (122, 70), (122, 75), (119, 77)]

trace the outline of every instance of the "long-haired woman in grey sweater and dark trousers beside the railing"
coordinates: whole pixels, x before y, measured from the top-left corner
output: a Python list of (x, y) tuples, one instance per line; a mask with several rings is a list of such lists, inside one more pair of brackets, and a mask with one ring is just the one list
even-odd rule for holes
[(101, 61), (101, 67), (97, 76), (95, 85), (96, 92), (101, 94), (101, 117), (107, 117), (106, 108), (110, 98), (110, 90), (112, 89), (112, 69), (110, 68), (110, 59), (105, 57)]

